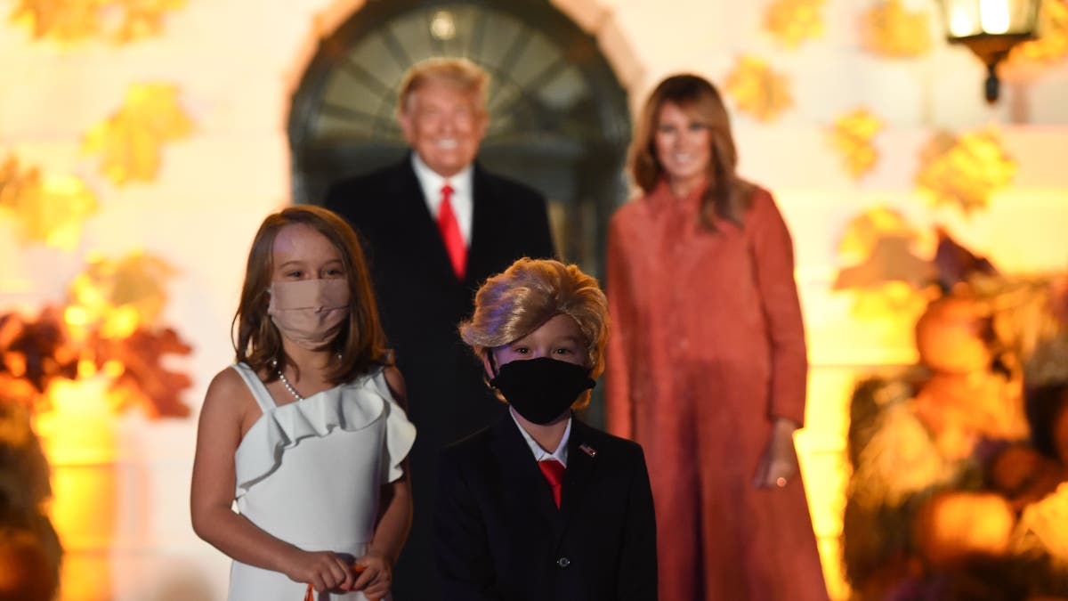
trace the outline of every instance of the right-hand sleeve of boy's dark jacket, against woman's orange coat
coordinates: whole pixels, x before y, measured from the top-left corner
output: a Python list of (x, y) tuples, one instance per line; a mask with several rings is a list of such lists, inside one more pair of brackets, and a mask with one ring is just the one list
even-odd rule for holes
[(656, 601), (657, 522), (641, 447), (637, 448), (633, 463), (616, 590), (619, 601)]

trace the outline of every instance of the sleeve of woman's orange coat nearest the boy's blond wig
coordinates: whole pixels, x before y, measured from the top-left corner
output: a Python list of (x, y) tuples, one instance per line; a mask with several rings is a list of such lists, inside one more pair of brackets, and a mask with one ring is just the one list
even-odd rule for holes
[(633, 406), (630, 401), (630, 360), (627, 337), (634, 325), (630, 297), (626, 242), (619, 233), (619, 220), (613, 218), (608, 232), (608, 269), (606, 295), (611, 318), (604, 372), (606, 430), (623, 438), (633, 438)]

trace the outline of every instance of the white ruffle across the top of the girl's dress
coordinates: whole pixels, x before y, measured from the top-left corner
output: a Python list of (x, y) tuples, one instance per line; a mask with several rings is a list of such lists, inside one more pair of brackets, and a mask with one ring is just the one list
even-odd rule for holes
[[(248, 369), (241, 365), (235, 368), (238, 371)], [(267, 394), (262, 382), (261, 388), (253, 394)], [(234, 453), (235, 472), (238, 474), (235, 496), (241, 496), (256, 482), (270, 476), (281, 465), (285, 451), (302, 440), (326, 436), (335, 428), (355, 432), (379, 419), (386, 419), (386, 451), (389, 453), (387, 481), (396, 480), (404, 475), (400, 462), (415, 442), (415, 427), (393, 400), (379, 370), (356, 382), (265, 412), (245, 434)]]

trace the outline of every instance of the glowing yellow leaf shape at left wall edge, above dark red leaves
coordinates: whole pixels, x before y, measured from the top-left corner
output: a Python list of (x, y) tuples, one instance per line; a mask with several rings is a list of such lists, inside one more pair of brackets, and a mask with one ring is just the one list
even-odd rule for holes
[(96, 209), (96, 196), (78, 178), (42, 179), (36, 168), (19, 170), (13, 156), (0, 164), (0, 210), (11, 212), (25, 241), (70, 250)]

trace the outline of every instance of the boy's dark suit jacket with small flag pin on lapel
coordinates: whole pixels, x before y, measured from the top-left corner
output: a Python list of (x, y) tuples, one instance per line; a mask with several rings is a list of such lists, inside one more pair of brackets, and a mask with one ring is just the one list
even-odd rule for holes
[(571, 422), (561, 508), (508, 415), (441, 456), (435, 554), (445, 601), (655, 601), (642, 447)]

